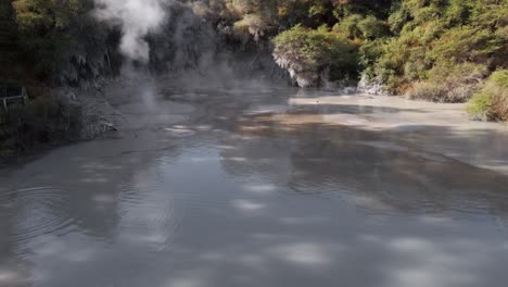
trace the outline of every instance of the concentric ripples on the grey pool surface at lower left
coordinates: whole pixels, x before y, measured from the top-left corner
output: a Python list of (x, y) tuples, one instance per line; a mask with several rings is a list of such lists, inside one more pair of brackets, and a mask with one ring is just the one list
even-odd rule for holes
[(16, 214), (13, 230), (1, 230), (2, 236), (11, 233), (16, 241), (25, 241), (42, 235), (65, 233), (74, 220), (66, 211), (68, 197), (53, 187), (17, 189), (0, 195), (0, 220)]

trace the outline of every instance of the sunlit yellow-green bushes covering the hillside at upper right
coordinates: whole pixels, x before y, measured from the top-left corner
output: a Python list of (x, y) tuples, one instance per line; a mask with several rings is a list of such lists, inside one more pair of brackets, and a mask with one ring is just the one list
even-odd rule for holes
[(507, 0), (226, 2), (233, 27), (249, 26), (237, 34), (275, 37), (277, 63), (300, 86), (363, 75), (390, 93), (466, 102), (508, 66)]

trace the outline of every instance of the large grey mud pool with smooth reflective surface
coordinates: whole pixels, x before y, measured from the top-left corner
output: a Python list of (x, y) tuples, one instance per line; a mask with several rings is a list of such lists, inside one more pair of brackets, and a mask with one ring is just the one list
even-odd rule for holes
[(422, 149), (422, 125), (366, 127), (431, 111), (292, 89), (164, 96), (193, 109), (0, 175), (1, 287), (508, 280), (508, 177)]

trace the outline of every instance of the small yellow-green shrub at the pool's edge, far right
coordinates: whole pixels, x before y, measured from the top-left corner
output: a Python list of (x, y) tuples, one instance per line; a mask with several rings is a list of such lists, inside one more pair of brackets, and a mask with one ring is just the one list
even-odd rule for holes
[(475, 120), (508, 121), (508, 70), (494, 72), (467, 111)]

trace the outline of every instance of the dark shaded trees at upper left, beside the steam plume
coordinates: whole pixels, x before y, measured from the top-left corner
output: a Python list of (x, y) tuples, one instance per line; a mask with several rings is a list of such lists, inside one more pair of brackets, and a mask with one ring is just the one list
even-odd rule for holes
[(20, 58), (39, 79), (75, 84), (102, 68), (109, 29), (91, 16), (92, 0), (14, 0), (12, 7)]

